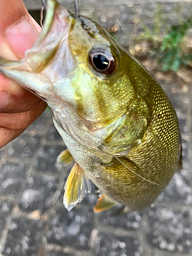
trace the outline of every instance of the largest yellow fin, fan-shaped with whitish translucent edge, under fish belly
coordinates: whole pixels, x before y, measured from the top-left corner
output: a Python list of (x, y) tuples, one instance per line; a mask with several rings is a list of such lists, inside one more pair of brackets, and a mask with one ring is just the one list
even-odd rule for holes
[(65, 184), (63, 204), (70, 211), (91, 192), (91, 183), (86, 172), (75, 162)]

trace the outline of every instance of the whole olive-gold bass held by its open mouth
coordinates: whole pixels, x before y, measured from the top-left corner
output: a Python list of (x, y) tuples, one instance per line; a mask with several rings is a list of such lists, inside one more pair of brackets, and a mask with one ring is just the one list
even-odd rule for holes
[(0, 72), (45, 100), (74, 160), (63, 203), (70, 211), (102, 191), (95, 212), (151, 205), (181, 168), (181, 135), (168, 96), (141, 63), (89, 17), (48, 0), (42, 31), (23, 59)]

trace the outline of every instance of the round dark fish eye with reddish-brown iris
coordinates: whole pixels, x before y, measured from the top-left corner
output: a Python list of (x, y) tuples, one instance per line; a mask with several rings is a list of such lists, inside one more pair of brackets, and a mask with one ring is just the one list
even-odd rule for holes
[(89, 61), (93, 69), (103, 75), (111, 75), (117, 69), (115, 57), (106, 49), (92, 49), (89, 54)]

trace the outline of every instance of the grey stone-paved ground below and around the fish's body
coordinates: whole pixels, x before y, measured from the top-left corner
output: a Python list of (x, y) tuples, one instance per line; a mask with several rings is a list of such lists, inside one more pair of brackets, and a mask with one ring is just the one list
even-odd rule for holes
[(191, 81), (152, 73), (175, 107), (183, 146), (183, 169), (156, 202), (115, 217), (94, 214), (92, 185), (92, 193), (68, 212), (62, 204), (65, 174), (56, 163), (65, 145), (46, 111), (0, 150), (0, 256), (192, 255)]

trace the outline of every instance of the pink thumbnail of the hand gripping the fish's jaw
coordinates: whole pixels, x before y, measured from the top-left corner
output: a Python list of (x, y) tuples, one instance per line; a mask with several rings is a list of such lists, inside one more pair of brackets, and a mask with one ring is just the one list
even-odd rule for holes
[(21, 20), (6, 33), (10, 47), (19, 58), (24, 57), (26, 50), (32, 48), (38, 36), (37, 30), (27, 20)]

